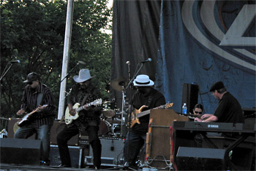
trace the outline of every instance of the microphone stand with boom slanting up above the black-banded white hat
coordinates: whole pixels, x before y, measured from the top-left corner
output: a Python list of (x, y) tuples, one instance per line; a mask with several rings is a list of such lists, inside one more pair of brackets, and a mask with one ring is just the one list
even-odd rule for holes
[[(140, 72), (140, 70), (143, 68), (143, 63), (140, 63), (141, 65), (140, 65), (140, 68), (138, 68), (138, 71), (135, 71), (135, 74), (134, 74), (134, 76), (132, 77), (132, 79), (130, 79), (129, 80), (129, 84), (127, 85), (127, 87), (126, 87), (126, 90), (129, 88), (129, 86), (131, 86), (132, 87), (132, 82), (134, 81), (134, 79), (136, 78), (136, 76), (138, 76), (138, 73)], [(124, 97), (124, 96), (123, 96)], [(124, 106), (124, 105), (123, 105)], [(129, 138), (130, 138), (130, 130), (131, 130), (131, 117), (132, 117), (132, 115), (130, 114), (129, 115), (129, 117), (128, 117), (128, 132), (129, 132), (129, 134), (128, 134), (128, 144), (127, 144), (127, 162), (125, 162), (124, 163), (124, 168), (129, 168)]]

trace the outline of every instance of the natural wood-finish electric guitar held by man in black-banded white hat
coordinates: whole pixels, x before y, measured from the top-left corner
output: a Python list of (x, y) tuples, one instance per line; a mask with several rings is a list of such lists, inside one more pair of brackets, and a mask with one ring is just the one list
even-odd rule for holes
[(143, 108), (146, 108), (146, 107), (147, 107), (146, 105), (143, 105), (139, 109), (135, 108), (135, 111), (132, 112), (132, 121), (130, 122), (130, 124), (131, 124), (130, 127), (133, 127), (135, 124), (140, 124), (139, 118), (142, 117), (142, 116), (146, 116), (146, 115), (150, 114), (151, 109), (171, 108), (171, 107), (173, 107), (173, 103), (166, 103), (163, 106), (158, 106), (157, 108), (151, 108), (147, 111), (142, 111)]

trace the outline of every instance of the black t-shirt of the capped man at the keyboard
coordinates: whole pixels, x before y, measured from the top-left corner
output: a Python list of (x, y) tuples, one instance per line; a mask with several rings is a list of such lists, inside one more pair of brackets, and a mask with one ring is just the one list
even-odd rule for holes
[(218, 117), (217, 122), (244, 123), (241, 105), (230, 92), (226, 92), (219, 100), (214, 116)]

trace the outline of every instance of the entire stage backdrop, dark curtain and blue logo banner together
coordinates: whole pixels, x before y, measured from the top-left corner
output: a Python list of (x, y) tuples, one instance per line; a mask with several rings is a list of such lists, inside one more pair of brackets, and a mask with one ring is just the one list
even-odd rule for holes
[[(177, 112), (184, 83), (199, 86), (198, 102), (207, 113), (217, 107), (208, 92), (216, 81), (243, 108), (255, 107), (255, 11), (255, 1), (114, 1), (112, 85), (129, 79), (127, 61), (133, 76), (150, 57), (140, 73), (156, 82)], [(111, 98), (121, 103), (114, 90)]]

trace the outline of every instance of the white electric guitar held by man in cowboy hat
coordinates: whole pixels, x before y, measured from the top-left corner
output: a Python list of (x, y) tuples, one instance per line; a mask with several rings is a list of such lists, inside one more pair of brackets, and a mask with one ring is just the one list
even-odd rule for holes
[[(65, 123), (66, 124), (71, 124), (73, 120), (75, 119), (78, 119), (79, 115), (79, 111), (82, 111), (83, 109), (89, 107), (89, 106), (99, 106), (102, 104), (102, 99), (97, 99), (97, 100), (94, 100), (93, 102), (91, 103), (87, 103), (86, 105), (84, 106), (80, 106), (79, 103), (75, 103), (75, 105), (73, 106), (73, 108), (75, 108), (75, 115), (72, 116), (71, 114), (69, 114), (69, 107), (66, 108), (66, 111), (65, 111)], [(80, 106), (80, 107), (79, 107)]]

